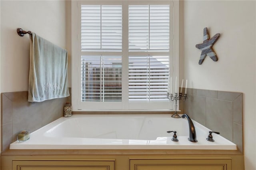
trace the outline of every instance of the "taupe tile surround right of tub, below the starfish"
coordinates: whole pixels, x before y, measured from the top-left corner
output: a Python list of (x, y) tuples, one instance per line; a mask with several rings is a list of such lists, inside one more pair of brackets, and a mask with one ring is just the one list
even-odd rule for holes
[(188, 99), (182, 102), (180, 109), (191, 119), (220, 132), (243, 152), (242, 93), (188, 89)]

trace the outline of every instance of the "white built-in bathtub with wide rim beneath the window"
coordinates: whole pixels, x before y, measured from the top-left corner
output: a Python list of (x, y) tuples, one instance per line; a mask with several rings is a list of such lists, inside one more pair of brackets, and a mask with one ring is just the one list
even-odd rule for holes
[[(193, 121), (198, 142), (188, 141), (187, 119), (171, 115), (72, 115), (32, 132), (25, 142), (13, 142), (10, 149), (202, 149), (237, 150), (236, 144), (213, 134)], [(177, 131), (178, 142), (171, 140)], [(220, 132), (221, 134), (221, 132)]]

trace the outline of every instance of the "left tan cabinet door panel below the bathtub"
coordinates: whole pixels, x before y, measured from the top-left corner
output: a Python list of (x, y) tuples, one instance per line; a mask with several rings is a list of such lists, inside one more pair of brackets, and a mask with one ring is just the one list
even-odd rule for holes
[(14, 160), (12, 170), (114, 170), (114, 161)]

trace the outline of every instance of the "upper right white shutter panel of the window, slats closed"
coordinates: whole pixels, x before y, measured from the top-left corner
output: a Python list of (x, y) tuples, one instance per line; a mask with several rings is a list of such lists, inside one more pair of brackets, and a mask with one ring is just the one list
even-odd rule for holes
[(129, 51), (169, 51), (169, 5), (129, 6)]

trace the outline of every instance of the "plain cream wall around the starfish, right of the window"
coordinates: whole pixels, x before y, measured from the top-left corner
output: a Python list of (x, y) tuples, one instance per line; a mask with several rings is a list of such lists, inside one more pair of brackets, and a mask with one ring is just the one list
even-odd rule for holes
[[(245, 169), (256, 169), (255, 143), (255, 1), (180, 1), (180, 70), (188, 87), (244, 93)], [(220, 33), (213, 48), (217, 62), (206, 57), (198, 65), (203, 29)], [(224, 113), (223, 113), (224, 114)]]

